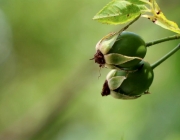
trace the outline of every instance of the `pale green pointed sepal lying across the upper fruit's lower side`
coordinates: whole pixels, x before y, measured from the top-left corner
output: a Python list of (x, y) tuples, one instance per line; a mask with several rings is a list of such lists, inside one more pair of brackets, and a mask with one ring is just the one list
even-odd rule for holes
[(125, 55), (117, 54), (117, 53), (106, 54), (104, 55), (104, 59), (107, 64), (113, 64), (113, 65), (124, 64), (126, 62), (129, 62), (135, 59), (142, 60), (139, 57), (129, 57), (129, 56), (125, 56)]

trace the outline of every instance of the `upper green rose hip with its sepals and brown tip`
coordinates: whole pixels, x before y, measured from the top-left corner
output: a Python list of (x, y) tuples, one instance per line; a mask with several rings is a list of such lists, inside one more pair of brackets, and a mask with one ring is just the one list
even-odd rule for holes
[(96, 45), (95, 62), (108, 68), (131, 68), (146, 55), (144, 40), (137, 34), (123, 31), (109, 34)]

